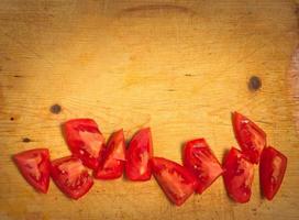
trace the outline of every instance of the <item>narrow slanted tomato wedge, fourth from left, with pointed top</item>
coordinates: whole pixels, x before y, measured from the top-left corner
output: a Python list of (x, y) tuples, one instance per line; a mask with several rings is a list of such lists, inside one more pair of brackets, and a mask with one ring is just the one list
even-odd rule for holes
[(113, 179), (119, 178), (123, 174), (125, 163), (125, 143), (123, 130), (114, 132), (103, 153), (103, 160), (95, 177), (99, 179)]

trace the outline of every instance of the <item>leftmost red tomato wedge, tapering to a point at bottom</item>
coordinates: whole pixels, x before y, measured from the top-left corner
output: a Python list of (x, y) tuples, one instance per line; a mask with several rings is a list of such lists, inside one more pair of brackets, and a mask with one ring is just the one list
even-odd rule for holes
[(49, 184), (49, 154), (47, 148), (34, 148), (13, 155), (13, 160), (27, 183), (46, 194)]

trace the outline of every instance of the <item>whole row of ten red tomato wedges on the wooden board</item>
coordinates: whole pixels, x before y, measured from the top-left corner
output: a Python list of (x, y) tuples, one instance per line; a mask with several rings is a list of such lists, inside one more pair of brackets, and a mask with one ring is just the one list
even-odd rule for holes
[(188, 141), (184, 165), (154, 157), (150, 128), (141, 129), (125, 146), (123, 130), (114, 132), (108, 143), (91, 119), (73, 119), (64, 123), (70, 156), (51, 161), (47, 148), (33, 148), (13, 155), (23, 177), (37, 191), (46, 194), (49, 177), (68, 197), (78, 199), (89, 191), (93, 178), (120, 178), (123, 173), (133, 182), (155, 176), (168, 199), (182, 205), (195, 191), (202, 194), (223, 176), (228, 195), (236, 202), (247, 202), (252, 195), (254, 164), (259, 163), (259, 183), (265, 198), (278, 191), (287, 157), (267, 145), (266, 133), (241, 113), (232, 113), (235, 138), (241, 150), (232, 147), (221, 165), (204, 139)]

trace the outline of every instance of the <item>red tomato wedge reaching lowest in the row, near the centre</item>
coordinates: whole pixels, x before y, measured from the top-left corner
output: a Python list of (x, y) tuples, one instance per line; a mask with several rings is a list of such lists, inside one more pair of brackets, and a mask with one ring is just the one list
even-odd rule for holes
[(182, 205), (195, 191), (196, 177), (184, 166), (167, 158), (151, 160), (153, 174), (168, 199)]

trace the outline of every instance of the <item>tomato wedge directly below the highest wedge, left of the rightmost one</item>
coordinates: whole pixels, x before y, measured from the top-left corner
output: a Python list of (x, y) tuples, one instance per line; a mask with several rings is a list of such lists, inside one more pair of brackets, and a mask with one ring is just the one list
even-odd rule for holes
[(241, 204), (252, 195), (254, 165), (236, 148), (232, 147), (224, 160), (224, 184), (229, 196)]

